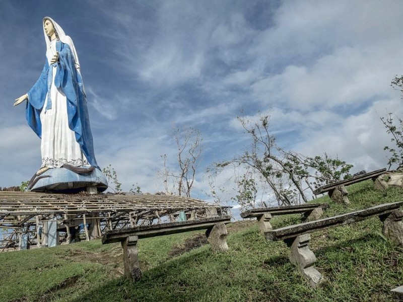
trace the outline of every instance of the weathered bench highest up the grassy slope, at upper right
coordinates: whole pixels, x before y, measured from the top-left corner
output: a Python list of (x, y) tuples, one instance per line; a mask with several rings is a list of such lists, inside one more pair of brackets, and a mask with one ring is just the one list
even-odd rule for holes
[(317, 188), (316, 190), (313, 191), (313, 194), (318, 195), (318, 194), (322, 194), (322, 193), (328, 193), (329, 197), (337, 203), (345, 203), (348, 204), (350, 203), (349, 198), (347, 197), (347, 195), (349, 194), (347, 192), (346, 186), (364, 181), (364, 180), (368, 180), (368, 179), (372, 179), (372, 181), (375, 182), (375, 180), (382, 174), (384, 174), (386, 171), (386, 168), (383, 169), (379, 169), (376, 171), (372, 171), (372, 172), (368, 172), (368, 173), (364, 173), (364, 174), (360, 174), (357, 176), (354, 176), (352, 178), (349, 179), (345, 179), (345, 180), (341, 180), (329, 185), (325, 185), (322, 186), (320, 188)]

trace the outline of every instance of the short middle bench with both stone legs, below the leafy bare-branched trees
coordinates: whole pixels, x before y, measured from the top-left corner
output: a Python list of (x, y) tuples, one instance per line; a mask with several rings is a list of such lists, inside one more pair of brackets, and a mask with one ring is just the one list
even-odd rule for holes
[(267, 208), (256, 208), (241, 213), (242, 218), (254, 218), (259, 221), (260, 233), (272, 230), (270, 219), (272, 216), (303, 213), (305, 219), (318, 219), (323, 214), (323, 209), (328, 208), (328, 203), (305, 203), (289, 206), (276, 206)]

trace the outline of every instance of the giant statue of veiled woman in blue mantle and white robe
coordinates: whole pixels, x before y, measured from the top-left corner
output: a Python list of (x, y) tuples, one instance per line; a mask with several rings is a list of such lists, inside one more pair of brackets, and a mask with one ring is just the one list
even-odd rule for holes
[[(42, 73), (31, 90), (14, 103), (16, 106), (27, 100), (28, 125), (41, 138), (42, 165), (32, 181), (38, 178), (36, 181), (44, 190), (95, 186), (103, 191), (106, 179), (95, 160), (87, 99), (73, 40), (49, 17), (43, 19), (43, 33), (46, 60)], [(48, 177), (53, 179), (43, 179)], [(33, 189), (38, 185), (32, 184)]]

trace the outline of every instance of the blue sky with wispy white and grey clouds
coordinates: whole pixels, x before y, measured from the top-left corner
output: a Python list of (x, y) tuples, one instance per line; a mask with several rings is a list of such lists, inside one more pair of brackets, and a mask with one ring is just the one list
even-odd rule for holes
[[(282, 147), (339, 157), (353, 173), (386, 167), (379, 116), (401, 114), (401, 1), (0, 2), (0, 186), (29, 180), (40, 139), (14, 100), (45, 61), (42, 19), (80, 57), (95, 155), (127, 191), (163, 190), (176, 169), (174, 127), (194, 127), (203, 153), (193, 197), (211, 200), (206, 168), (250, 145), (236, 117), (271, 115)], [(233, 187), (228, 174), (217, 186)], [(225, 197), (231, 203), (230, 195)]]

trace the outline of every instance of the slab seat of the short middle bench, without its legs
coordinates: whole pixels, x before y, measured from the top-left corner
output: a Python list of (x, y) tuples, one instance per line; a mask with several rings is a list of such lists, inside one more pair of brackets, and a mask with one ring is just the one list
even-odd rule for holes
[(307, 211), (314, 210), (315, 208), (328, 208), (328, 203), (308, 203), (308, 204), (297, 204), (288, 206), (276, 206), (268, 208), (255, 208), (244, 211), (241, 213), (242, 218), (253, 218), (259, 217), (265, 213), (270, 213), (272, 216), (276, 215), (287, 215), (287, 214), (297, 214), (304, 213)]

